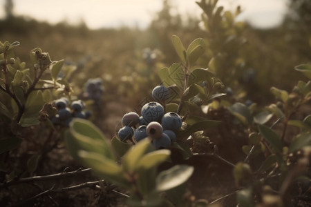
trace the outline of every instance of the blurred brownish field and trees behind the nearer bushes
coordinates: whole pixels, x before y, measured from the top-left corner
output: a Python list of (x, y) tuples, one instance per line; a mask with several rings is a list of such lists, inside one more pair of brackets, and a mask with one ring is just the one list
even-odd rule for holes
[(76, 66), (70, 77), (76, 95), (87, 79), (101, 77), (106, 88), (104, 99), (124, 101), (131, 108), (160, 83), (157, 71), (178, 61), (172, 34), (186, 45), (198, 37), (205, 39), (207, 48), (198, 65), (216, 70), (238, 100), (269, 103), (270, 87), (290, 90), (304, 79), (294, 66), (310, 62), (310, 1), (289, 1), (283, 23), (267, 30), (237, 22), (243, 8), (226, 11), (216, 6), (211, 12), (198, 4), (204, 11), (202, 19), (171, 12), (170, 1), (163, 0), (162, 10), (144, 30), (125, 26), (90, 30), (83, 20), (77, 26), (66, 21), (50, 25), (15, 15), (14, 3), (8, 0), (6, 16), (0, 20), (0, 39), (21, 42), (16, 51), (21, 61), (27, 62), (28, 51), (40, 47), (53, 60), (65, 59), (66, 64)]

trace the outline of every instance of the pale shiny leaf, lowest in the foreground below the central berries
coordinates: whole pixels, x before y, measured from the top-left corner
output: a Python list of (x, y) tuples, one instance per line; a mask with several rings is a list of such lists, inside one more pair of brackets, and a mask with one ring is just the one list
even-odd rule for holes
[(157, 190), (165, 191), (185, 183), (194, 172), (193, 166), (176, 165), (160, 172), (156, 178)]

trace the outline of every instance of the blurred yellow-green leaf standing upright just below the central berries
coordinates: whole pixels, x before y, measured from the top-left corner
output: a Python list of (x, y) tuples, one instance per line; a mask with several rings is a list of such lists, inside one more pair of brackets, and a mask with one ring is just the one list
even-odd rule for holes
[(122, 164), (128, 172), (134, 172), (142, 156), (151, 146), (150, 139), (144, 139), (131, 148), (123, 157)]

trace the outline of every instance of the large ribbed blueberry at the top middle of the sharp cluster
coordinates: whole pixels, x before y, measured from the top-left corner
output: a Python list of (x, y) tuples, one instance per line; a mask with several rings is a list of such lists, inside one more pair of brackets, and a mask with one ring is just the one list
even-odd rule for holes
[(151, 121), (161, 121), (163, 115), (164, 108), (158, 102), (149, 102), (142, 106), (142, 117), (149, 123)]

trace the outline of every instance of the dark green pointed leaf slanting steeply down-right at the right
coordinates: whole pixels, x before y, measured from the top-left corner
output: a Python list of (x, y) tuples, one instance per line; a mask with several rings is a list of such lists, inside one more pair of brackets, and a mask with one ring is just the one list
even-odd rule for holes
[(272, 146), (272, 148), (276, 150), (276, 152), (281, 153), (283, 151), (282, 141), (274, 130), (261, 124), (258, 125), (258, 130), (261, 132), (261, 135), (263, 135), (265, 140)]

